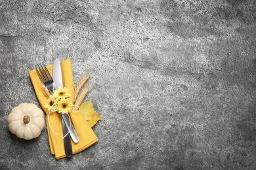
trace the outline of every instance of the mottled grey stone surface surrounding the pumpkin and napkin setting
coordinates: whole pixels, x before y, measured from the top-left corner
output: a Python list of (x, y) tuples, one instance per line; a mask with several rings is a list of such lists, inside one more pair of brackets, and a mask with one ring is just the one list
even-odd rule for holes
[[(255, 169), (254, 0), (0, 1), (0, 169)], [(7, 115), (39, 105), (28, 71), (94, 69), (99, 141), (70, 160), (47, 129), (25, 141)]]

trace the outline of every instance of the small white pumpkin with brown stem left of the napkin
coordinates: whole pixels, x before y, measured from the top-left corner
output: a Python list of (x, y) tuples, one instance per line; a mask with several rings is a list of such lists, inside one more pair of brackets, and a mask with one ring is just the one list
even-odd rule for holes
[(21, 103), (7, 117), (9, 130), (17, 137), (30, 140), (38, 137), (45, 127), (43, 111), (33, 103)]

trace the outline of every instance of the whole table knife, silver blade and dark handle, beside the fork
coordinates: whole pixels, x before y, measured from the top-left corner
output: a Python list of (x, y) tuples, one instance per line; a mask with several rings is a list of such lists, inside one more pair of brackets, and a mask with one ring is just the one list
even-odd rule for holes
[[(62, 88), (62, 74), (61, 74), (60, 62), (58, 59), (56, 59), (53, 64), (53, 81), (54, 81), (54, 84), (58, 85), (58, 86), (55, 86), (56, 89)], [(65, 136), (68, 133), (68, 128), (66, 127), (66, 124), (64, 122), (64, 115), (66, 114), (60, 114), (60, 115), (62, 120), (62, 132), (63, 132), (63, 136)], [(66, 135), (66, 137), (64, 137), (63, 140), (64, 140), (64, 150), (65, 150), (66, 156), (70, 158), (72, 157), (72, 145), (71, 145), (70, 133)]]

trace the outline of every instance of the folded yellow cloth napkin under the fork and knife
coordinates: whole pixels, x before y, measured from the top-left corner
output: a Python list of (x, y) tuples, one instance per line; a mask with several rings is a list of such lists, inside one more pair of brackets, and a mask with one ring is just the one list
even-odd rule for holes
[[(62, 81), (63, 86), (68, 88), (70, 93), (70, 101), (74, 102), (74, 82), (72, 75), (72, 65), (70, 59), (66, 59), (60, 63), (62, 67)], [(47, 65), (47, 69), (50, 73), (53, 71), (53, 65)], [(37, 75), (37, 72), (34, 70), (29, 71), (30, 78), (32, 80), (33, 88), (35, 89), (35, 93), (37, 95), (37, 99), (41, 105), (41, 108), (47, 113), (47, 109), (45, 109), (44, 105), (47, 101), (47, 97), (45, 97), (42, 90), (42, 83)], [(93, 129), (88, 124), (88, 122), (83, 118), (83, 115), (80, 112), (70, 112), (70, 118), (72, 120), (72, 124), (75, 128), (77, 136), (79, 137), (79, 143), (74, 143), (72, 140), (72, 150), (73, 154), (77, 152), (81, 152), (85, 150), (92, 144), (98, 141)], [(62, 121), (61, 116), (52, 112), (51, 114), (47, 114), (47, 131), (49, 135), (49, 144), (51, 148), (51, 153), (55, 154), (56, 159), (66, 157), (64, 150), (64, 141), (62, 139)], [(49, 123), (51, 127), (49, 126)], [(54, 133), (55, 132), (55, 133)], [(58, 134), (56, 134), (58, 133)], [(66, 135), (66, 134), (65, 134)]]

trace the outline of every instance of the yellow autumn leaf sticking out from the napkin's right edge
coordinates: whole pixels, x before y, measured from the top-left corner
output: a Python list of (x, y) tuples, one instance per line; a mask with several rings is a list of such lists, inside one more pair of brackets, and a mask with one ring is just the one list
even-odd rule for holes
[(98, 113), (95, 111), (91, 100), (80, 105), (80, 112), (83, 114), (83, 117), (91, 127), (95, 126), (98, 120), (102, 120)]

